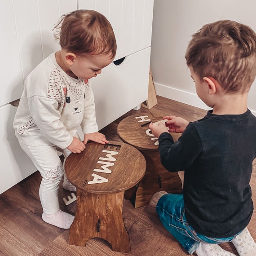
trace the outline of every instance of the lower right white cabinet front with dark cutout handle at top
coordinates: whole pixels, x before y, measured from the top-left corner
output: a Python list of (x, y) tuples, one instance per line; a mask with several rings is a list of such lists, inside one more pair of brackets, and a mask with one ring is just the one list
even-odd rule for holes
[(111, 63), (92, 79), (100, 129), (147, 99), (149, 65), (150, 47), (129, 55), (119, 66)]

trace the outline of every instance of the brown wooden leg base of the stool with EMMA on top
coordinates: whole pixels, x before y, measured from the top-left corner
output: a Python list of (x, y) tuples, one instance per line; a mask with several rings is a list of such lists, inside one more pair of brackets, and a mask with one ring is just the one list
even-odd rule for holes
[(103, 238), (113, 251), (130, 252), (130, 238), (124, 226), (124, 192), (93, 194), (77, 188), (75, 220), (69, 232), (69, 244), (85, 246), (90, 238)]

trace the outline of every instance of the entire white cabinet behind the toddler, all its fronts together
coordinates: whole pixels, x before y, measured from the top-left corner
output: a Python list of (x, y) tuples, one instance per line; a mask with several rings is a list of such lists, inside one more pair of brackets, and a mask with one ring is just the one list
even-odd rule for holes
[(53, 25), (62, 14), (94, 9), (113, 26), (117, 40), (115, 60), (93, 79), (99, 128), (145, 101), (148, 92), (151, 29), (154, 0), (12, 0), (1, 1), (0, 46), (4, 49), (0, 86), (0, 193), (15, 185), (35, 167), (21, 150), (12, 128), (24, 80), (35, 66), (59, 49)]

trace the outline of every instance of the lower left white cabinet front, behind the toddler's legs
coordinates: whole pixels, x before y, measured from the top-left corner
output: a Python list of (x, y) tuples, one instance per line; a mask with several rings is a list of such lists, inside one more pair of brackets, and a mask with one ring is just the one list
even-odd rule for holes
[(30, 158), (21, 149), (13, 130), (16, 107), (0, 106), (0, 194), (36, 171)]

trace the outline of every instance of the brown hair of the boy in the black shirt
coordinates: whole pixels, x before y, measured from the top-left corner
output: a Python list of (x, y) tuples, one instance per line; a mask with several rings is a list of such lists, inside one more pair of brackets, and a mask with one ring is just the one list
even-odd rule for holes
[(256, 76), (256, 33), (230, 20), (204, 25), (192, 36), (185, 58), (201, 79), (216, 79), (226, 93), (247, 92)]

